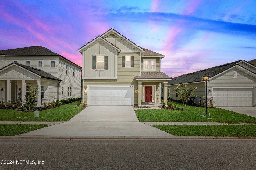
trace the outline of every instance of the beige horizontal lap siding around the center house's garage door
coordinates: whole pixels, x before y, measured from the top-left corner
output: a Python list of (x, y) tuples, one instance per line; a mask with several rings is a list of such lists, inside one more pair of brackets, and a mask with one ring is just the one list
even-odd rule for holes
[[(122, 56), (130, 55), (134, 56), (134, 67), (124, 68), (122, 67)], [(134, 86), (134, 104), (138, 104), (138, 81), (135, 79), (135, 76), (140, 75), (140, 53), (134, 52), (120, 52), (118, 53), (118, 62), (117, 62), (117, 80), (100, 80), (100, 79), (84, 79), (84, 88), (87, 88), (87, 85), (133, 85)], [(88, 89), (88, 88), (87, 88)], [(84, 103), (87, 104), (87, 92), (84, 93)]]

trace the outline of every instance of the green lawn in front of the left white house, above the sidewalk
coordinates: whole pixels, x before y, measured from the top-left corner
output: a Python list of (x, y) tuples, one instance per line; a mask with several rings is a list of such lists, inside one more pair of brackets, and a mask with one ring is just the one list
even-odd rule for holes
[[(28, 112), (1, 109), (0, 121), (68, 121), (84, 109), (76, 106), (78, 102), (79, 101), (76, 101), (52, 109), (39, 111), (38, 118), (34, 117), (34, 112), (30, 112), (30, 118), (23, 119), (23, 117), (28, 117)], [(16, 117), (21, 118), (15, 119)]]

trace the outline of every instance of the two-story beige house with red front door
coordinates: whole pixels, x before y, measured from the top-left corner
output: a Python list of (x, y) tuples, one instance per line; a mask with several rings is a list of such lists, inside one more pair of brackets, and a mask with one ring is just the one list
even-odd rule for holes
[[(78, 49), (83, 54), (83, 101), (87, 105), (160, 102), (164, 55), (142, 48), (110, 29)], [(167, 95), (164, 96), (167, 99)]]

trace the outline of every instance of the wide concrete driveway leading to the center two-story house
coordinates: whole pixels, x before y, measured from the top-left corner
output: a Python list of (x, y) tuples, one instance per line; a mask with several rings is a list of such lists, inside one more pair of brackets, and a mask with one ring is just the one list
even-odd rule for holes
[(132, 106), (88, 106), (67, 122), (19, 136), (173, 136), (139, 122)]

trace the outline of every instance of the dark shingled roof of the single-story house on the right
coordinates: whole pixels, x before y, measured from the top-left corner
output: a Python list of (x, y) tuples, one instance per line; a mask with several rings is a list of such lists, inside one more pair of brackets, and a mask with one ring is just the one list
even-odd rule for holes
[[(246, 62), (245, 60), (239, 60), (239, 61), (235, 61), (232, 63), (227, 63), (227, 64), (223, 64), (220, 66), (216, 66), (216, 67), (212, 67), (212, 68), (208, 68), (208, 69), (204, 69), (204, 70), (200, 70), (200, 71), (196, 71), (193, 73), (188, 73), (188, 74), (183, 74), (181, 76), (177, 76), (172, 78), (172, 80), (168, 81), (168, 85), (173, 85), (173, 84), (180, 84), (180, 83), (193, 83), (193, 82), (200, 82), (200, 81), (204, 81), (203, 80), (203, 75), (204, 74), (209, 74), (212, 77), (218, 75), (219, 73), (222, 73), (234, 66), (239, 66), (238, 63), (240, 63), (241, 61)], [(246, 62), (247, 63), (247, 62)], [(253, 73), (255, 74), (255, 73)], [(211, 77), (211, 78), (212, 78)]]

